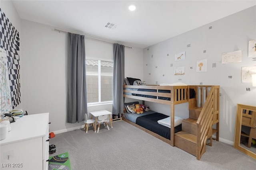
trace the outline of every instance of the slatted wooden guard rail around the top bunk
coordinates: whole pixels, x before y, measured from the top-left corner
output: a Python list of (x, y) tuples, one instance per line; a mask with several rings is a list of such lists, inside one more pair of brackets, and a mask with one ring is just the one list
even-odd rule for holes
[(124, 85), (124, 97), (160, 104), (188, 102), (188, 86)]

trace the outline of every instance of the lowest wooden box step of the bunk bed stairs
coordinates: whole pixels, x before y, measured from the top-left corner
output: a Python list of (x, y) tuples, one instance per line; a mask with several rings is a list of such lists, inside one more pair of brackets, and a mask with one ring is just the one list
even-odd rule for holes
[(196, 156), (196, 135), (185, 131), (175, 133), (174, 145)]

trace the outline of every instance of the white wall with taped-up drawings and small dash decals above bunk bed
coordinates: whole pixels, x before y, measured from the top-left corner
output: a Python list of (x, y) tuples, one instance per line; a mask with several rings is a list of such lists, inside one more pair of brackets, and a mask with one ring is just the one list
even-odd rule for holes
[[(256, 105), (256, 88), (251, 83), (241, 82), (241, 68), (256, 65), (256, 61), (248, 57), (248, 41), (255, 39), (256, 6), (145, 48), (144, 79), (147, 84), (184, 82), (199, 85), (202, 82), (203, 85), (220, 85), (220, 138), (232, 143), (236, 104)], [(188, 44), (191, 47), (187, 47)], [(237, 50), (242, 51), (241, 63), (221, 63), (222, 53)], [(183, 51), (186, 51), (186, 59), (174, 61), (175, 53)], [(207, 59), (207, 72), (196, 72), (196, 61), (200, 59)], [(185, 75), (174, 76), (174, 68), (180, 66), (185, 67)], [(170, 115), (170, 106), (147, 104)], [(175, 106), (175, 111), (186, 117), (187, 108), (187, 104), (181, 104)]]

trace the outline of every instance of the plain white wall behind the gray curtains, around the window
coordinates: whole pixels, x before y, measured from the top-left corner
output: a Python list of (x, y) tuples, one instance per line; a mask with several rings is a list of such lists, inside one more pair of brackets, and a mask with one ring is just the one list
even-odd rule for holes
[[(70, 31), (74, 32), (74, 31)], [(54, 27), (22, 20), (22, 81), (23, 107), (30, 114), (49, 112), (50, 131), (62, 132), (84, 123), (66, 123), (66, 59), (67, 34), (54, 31)], [(86, 39), (86, 57), (113, 59), (113, 45)], [(125, 62), (133, 63), (142, 77), (143, 50), (125, 48)], [(88, 106), (88, 111), (106, 109), (112, 104)]]

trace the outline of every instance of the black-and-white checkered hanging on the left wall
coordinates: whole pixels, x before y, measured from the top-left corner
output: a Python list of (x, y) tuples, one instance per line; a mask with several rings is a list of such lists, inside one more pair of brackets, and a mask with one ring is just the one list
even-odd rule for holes
[(6, 51), (7, 65), (10, 81), (12, 109), (20, 104), (20, 38), (19, 32), (12, 26), (12, 23), (1, 12), (0, 47)]

